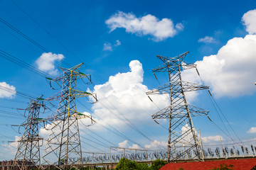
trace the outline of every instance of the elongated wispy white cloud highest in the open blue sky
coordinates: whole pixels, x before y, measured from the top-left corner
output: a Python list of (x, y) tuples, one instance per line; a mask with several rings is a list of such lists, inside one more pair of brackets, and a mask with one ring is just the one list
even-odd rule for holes
[(136, 35), (151, 35), (154, 41), (172, 38), (183, 30), (183, 25), (177, 23), (174, 26), (173, 21), (169, 18), (159, 20), (156, 16), (148, 14), (137, 18), (133, 13), (124, 13), (119, 11), (105, 22), (110, 28), (110, 32), (117, 28), (125, 28), (127, 33), (135, 33)]

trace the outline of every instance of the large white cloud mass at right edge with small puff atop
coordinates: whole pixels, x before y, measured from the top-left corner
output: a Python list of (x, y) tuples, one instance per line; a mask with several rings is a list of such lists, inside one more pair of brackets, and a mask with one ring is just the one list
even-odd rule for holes
[[(255, 10), (245, 13), (242, 20), (249, 33), (256, 33), (256, 20), (252, 20)], [(246, 15), (247, 14), (247, 15)], [(217, 55), (203, 57), (197, 61), (198, 70), (206, 85), (215, 96), (243, 96), (253, 94), (256, 72), (256, 35), (232, 38), (220, 48)], [(183, 75), (189, 81), (200, 82), (195, 72), (185, 70)], [(190, 77), (190, 78), (189, 78)]]

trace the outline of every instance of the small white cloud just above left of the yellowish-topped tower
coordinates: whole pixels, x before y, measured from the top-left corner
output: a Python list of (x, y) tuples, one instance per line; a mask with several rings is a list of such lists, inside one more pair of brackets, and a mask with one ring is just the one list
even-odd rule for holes
[(55, 62), (61, 61), (64, 59), (64, 56), (61, 54), (53, 54), (52, 52), (44, 52), (43, 55), (38, 57), (36, 60), (36, 65), (38, 69), (42, 70), (43, 72), (46, 72), (51, 75), (58, 74), (58, 69), (55, 68)]

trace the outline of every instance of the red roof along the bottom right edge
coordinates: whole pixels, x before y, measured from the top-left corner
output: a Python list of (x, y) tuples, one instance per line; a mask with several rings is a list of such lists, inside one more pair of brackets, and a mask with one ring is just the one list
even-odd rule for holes
[(161, 167), (160, 170), (178, 170), (183, 168), (184, 170), (207, 170), (220, 168), (220, 164), (233, 165), (234, 170), (250, 170), (256, 166), (256, 158), (252, 159), (225, 159), (219, 161), (208, 162), (179, 162), (169, 163)]

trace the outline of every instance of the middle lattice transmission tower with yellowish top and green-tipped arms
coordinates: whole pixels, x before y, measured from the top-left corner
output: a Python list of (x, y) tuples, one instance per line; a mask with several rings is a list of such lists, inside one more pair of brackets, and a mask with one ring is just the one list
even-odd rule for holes
[(78, 79), (87, 78), (88, 84), (91, 83), (90, 75), (80, 72), (81, 67), (82, 63), (70, 69), (60, 67), (63, 71), (61, 77), (48, 78), (50, 82), (55, 81), (59, 84), (62, 90), (55, 96), (46, 99), (47, 101), (59, 100), (58, 109), (52, 118), (50, 135), (41, 162), (42, 167), (46, 169), (50, 166), (53, 166), (54, 169), (79, 168), (82, 166), (78, 120), (81, 118), (92, 120), (92, 118), (76, 111), (75, 98), (95, 96), (76, 89)]

